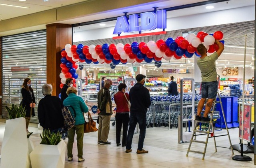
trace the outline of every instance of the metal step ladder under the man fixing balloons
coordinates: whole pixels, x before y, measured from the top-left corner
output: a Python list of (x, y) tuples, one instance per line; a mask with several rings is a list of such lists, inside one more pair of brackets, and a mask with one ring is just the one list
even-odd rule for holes
[[(220, 98), (220, 94), (217, 92), (217, 95), (218, 95), (220, 101), (216, 101), (216, 99), (215, 99), (214, 102), (213, 102), (212, 111), (210, 111), (210, 122), (195, 120), (196, 121), (196, 125), (198, 125), (198, 123), (208, 123), (209, 127), (208, 127), (208, 131), (196, 130), (196, 127), (194, 128), (193, 133), (192, 133), (192, 137), (190, 139), (190, 144), (188, 146), (188, 151), (187, 151), (186, 156), (188, 156), (189, 152), (199, 153), (199, 154), (203, 154), (202, 159), (204, 160), (204, 156), (205, 156), (205, 153), (206, 153), (206, 147), (207, 147), (207, 144), (208, 144), (208, 139), (209, 138), (213, 138), (214, 139), (215, 152), (217, 152), (217, 146), (216, 146), (215, 137), (226, 136), (226, 135), (228, 136), (228, 140), (229, 140), (229, 143), (230, 143), (229, 149), (231, 150), (232, 154), (234, 154), (234, 151), (233, 151), (233, 148), (232, 148), (232, 143), (231, 143), (231, 140), (230, 140), (230, 135), (229, 135), (229, 132), (228, 132), (228, 126), (227, 126), (227, 123), (226, 123), (226, 118), (225, 118), (225, 115), (224, 115), (224, 110), (223, 110), (223, 106), (222, 106), (222, 102), (221, 102), (221, 98)], [(215, 136), (214, 135), (214, 127), (213, 127), (213, 123), (212, 123), (212, 116), (214, 114), (214, 107), (215, 107), (215, 105), (217, 103), (220, 103), (220, 106), (221, 106), (221, 109), (222, 109), (222, 115), (223, 115), (223, 118), (224, 118), (224, 123), (226, 125), (227, 134), (225, 134), (225, 135), (216, 135)], [(200, 133), (200, 134), (196, 135), (196, 133)], [(198, 140), (196, 140), (196, 136), (199, 136), (199, 135), (207, 135), (206, 141), (198, 141)], [(209, 135), (211, 135), (211, 137), (209, 137)], [(204, 151), (202, 152), (202, 151), (198, 151), (198, 150), (191, 150), (190, 147), (191, 147), (192, 143), (202, 143), (202, 144), (205, 144)], [(227, 147), (222, 147), (222, 148), (227, 148)]]

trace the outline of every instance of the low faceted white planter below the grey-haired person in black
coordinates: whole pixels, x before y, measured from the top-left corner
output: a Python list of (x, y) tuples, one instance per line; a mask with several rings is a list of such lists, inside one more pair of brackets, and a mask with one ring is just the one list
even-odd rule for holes
[(58, 145), (39, 144), (30, 153), (33, 168), (64, 168), (66, 143), (61, 140)]

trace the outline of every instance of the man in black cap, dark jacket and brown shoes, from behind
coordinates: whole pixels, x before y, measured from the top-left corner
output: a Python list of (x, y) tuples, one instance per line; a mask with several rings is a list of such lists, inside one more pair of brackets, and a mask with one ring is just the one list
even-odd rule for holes
[(145, 78), (145, 75), (138, 74), (136, 76), (137, 83), (130, 89), (130, 128), (126, 141), (126, 153), (132, 152), (132, 138), (137, 123), (140, 128), (137, 153), (148, 153), (148, 150), (143, 149), (143, 143), (146, 136), (146, 113), (150, 107), (151, 100), (148, 89), (143, 86)]

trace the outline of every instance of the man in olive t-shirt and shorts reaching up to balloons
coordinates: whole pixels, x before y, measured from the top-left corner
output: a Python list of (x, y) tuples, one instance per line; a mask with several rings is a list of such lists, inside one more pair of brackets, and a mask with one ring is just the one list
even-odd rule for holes
[[(196, 120), (199, 121), (210, 121), (208, 113), (212, 107), (212, 103), (216, 98), (218, 91), (218, 82), (217, 82), (217, 72), (215, 61), (220, 57), (220, 54), (224, 50), (224, 45), (218, 40), (215, 40), (215, 43), (218, 44), (219, 49), (210, 56), (207, 56), (207, 49), (201, 43), (197, 47), (197, 51), (200, 53), (201, 57), (196, 60), (198, 67), (202, 73), (202, 84), (201, 92), (202, 98), (198, 103)], [(204, 102), (208, 98), (208, 101), (205, 106), (204, 116), (201, 118), (201, 111), (204, 107)]]

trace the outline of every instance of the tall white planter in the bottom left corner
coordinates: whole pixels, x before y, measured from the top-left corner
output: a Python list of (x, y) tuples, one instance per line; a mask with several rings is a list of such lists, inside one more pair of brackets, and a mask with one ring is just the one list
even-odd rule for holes
[(0, 167), (31, 168), (26, 121), (23, 117), (6, 120)]

